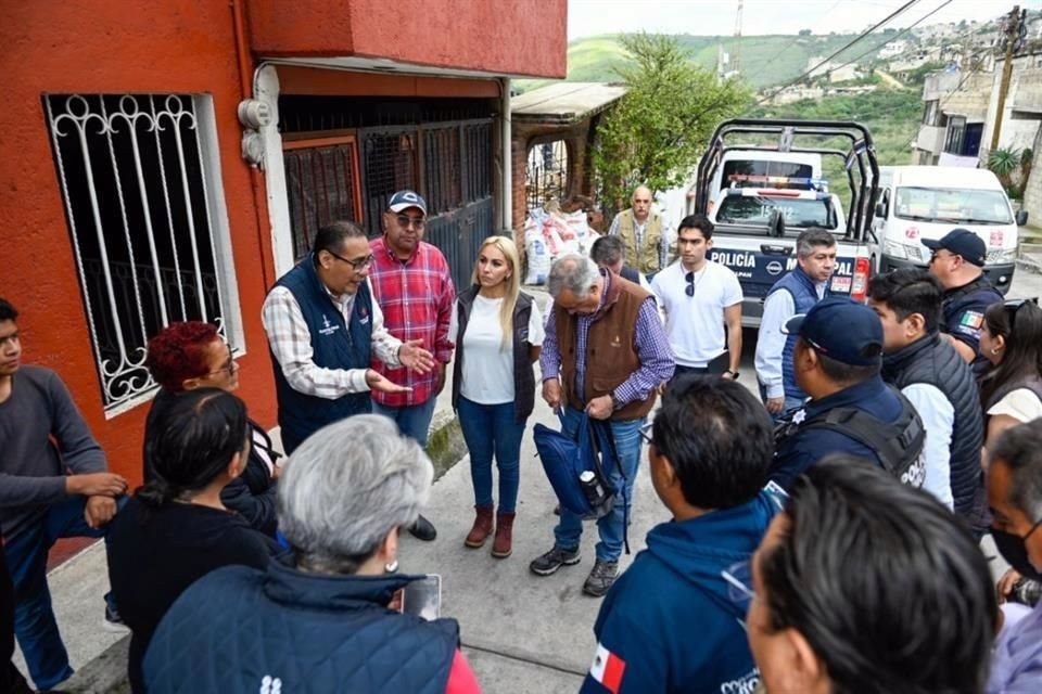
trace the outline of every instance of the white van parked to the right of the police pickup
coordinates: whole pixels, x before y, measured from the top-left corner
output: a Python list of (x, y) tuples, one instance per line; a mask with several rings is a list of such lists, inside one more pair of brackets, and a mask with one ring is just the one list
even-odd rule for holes
[(930, 250), (924, 239), (937, 240), (952, 229), (968, 229), (988, 246), (984, 273), (1005, 294), (1017, 259), (1017, 226), (1009, 198), (988, 169), (954, 166), (881, 166), (879, 196), (869, 242), (876, 272), (925, 268)]

